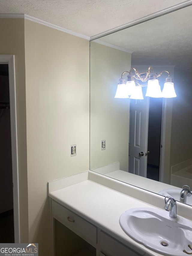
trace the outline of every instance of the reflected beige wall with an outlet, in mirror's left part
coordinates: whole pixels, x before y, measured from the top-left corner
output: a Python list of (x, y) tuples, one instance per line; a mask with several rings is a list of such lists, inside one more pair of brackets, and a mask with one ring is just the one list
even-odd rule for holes
[(120, 161), (120, 169), (128, 171), (129, 99), (114, 96), (122, 72), (130, 67), (130, 53), (91, 42), (90, 169)]

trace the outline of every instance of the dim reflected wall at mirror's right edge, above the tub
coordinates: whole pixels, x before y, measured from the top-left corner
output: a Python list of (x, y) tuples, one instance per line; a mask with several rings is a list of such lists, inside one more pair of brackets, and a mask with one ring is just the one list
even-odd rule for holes
[(191, 158), (192, 73), (175, 69), (170, 166)]

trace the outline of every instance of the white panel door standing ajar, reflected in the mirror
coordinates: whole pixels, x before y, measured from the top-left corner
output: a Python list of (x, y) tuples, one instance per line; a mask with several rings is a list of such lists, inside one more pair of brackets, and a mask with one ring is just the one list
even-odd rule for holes
[(149, 97), (131, 100), (129, 120), (129, 172), (147, 177)]

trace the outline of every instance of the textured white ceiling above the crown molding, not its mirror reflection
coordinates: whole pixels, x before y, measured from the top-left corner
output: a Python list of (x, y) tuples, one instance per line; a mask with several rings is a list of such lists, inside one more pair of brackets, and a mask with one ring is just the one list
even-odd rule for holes
[(181, 0), (0, 0), (1, 14), (28, 14), (87, 36), (121, 26)]

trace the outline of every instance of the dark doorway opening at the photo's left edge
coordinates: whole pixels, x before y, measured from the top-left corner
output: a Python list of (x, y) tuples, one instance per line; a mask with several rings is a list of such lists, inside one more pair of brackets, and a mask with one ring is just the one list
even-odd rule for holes
[(8, 64), (0, 64), (0, 242), (14, 243), (13, 177)]

